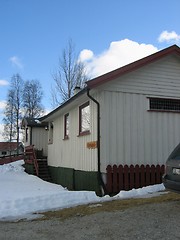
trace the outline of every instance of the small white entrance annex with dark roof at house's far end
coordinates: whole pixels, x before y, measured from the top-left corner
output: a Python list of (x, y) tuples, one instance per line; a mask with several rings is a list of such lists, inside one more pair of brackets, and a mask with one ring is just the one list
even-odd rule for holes
[(47, 156), (47, 123), (42, 123), (40, 120), (41, 118), (23, 118), (21, 123), (21, 128), (24, 130), (23, 142), (25, 147), (34, 145), (37, 152), (43, 156)]

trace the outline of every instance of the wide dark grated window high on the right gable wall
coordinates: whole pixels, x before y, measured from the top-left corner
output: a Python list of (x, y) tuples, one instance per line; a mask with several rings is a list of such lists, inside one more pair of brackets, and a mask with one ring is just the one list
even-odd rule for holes
[(150, 98), (150, 110), (180, 112), (180, 99)]

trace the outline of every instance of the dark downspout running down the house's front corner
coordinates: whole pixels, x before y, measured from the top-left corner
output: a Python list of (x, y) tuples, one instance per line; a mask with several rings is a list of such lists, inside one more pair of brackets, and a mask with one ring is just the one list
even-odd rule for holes
[(101, 174), (101, 148), (100, 148), (100, 103), (90, 95), (90, 89), (87, 88), (87, 96), (97, 105), (97, 158), (98, 158), (98, 181), (103, 188), (104, 194), (107, 193), (106, 186)]

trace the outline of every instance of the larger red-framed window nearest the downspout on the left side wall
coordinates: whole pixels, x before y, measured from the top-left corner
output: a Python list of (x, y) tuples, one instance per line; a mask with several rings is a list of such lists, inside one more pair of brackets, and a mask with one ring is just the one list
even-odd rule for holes
[(90, 133), (90, 106), (89, 102), (79, 107), (79, 135)]

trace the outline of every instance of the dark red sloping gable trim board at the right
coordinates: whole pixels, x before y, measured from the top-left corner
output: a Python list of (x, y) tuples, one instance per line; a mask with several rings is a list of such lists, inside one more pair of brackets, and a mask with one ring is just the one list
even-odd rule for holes
[(115, 78), (118, 78), (118, 77), (122, 76), (123, 74), (132, 72), (138, 68), (141, 68), (149, 63), (155, 62), (155, 61), (157, 61), (167, 55), (170, 55), (170, 54), (180, 55), (180, 48), (177, 45), (172, 45), (172, 46), (165, 48), (159, 52), (156, 52), (156, 53), (151, 54), (147, 57), (144, 57), (140, 60), (137, 60), (133, 63), (125, 65), (124, 67), (118, 68), (114, 71), (111, 71), (109, 73), (106, 73), (104, 75), (96, 77), (90, 81), (87, 81), (86, 82), (87, 86), (89, 88), (95, 88), (101, 84), (104, 84), (106, 82), (114, 80)]

